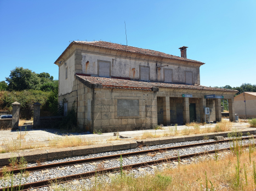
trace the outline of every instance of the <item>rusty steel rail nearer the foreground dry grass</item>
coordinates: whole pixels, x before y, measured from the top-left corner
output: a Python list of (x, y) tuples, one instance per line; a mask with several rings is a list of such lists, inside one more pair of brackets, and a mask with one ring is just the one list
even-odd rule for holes
[[(248, 147), (249, 145), (243, 145), (242, 147)], [(158, 160), (152, 160), (150, 162), (144, 162), (144, 163), (137, 163), (137, 164), (131, 164), (131, 165), (124, 165), (123, 170), (128, 170), (128, 169), (136, 169), (136, 168), (145, 168), (149, 165), (157, 165), (161, 163), (169, 163), (181, 159), (187, 159), (187, 158), (192, 158), (192, 157), (197, 157), (197, 156), (204, 156), (207, 154), (215, 153), (215, 152), (220, 152), (220, 151), (226, 151), (226, 150), (231, 150), (231, 148), (221, 148), (219, 150), (211, 150), (211, 151), (205, 151), (205, 152), (199, 152), (199, 153), (193, 153), (193, 154), (187, 154), (183, 156), (177, 156), (177, 157), (169, 157), (169, 158), (164, 158), (164, 159), (158, 159)], [(37, 188), (42, 188), (46, 186), (50, 186), (52, 184), (60, 184), (60, 183), (65, 183), (69, 182), (72, 180), (80, 180), (82, 178), (88, 178), (88, 177), (93, 177), (96, 174), (98, 175), (104, 175), (107, 173), (113, 173), (113, 172), (120, 172), (120, 168), (110, 168), (110, 169), (103, 169), (103, 170), (97, 170), (97, 171), (90, 171), (90, 172), (84, 172), (81, 174), (76, 174), (76, 175), (69, 175), (69, 176), (64, 176), (64, 177), (57, 177), (57, 178), (52, 178), (44, 181), (39, 181), (39, 182), (31, 182), (31, 183), (26, 183), (26, 184), (21, 184), (20, 186), (13, 186), (13, 189), (16, 190), (17, 188), (22, 188), (22, 190), (30, 190), (30, 189), (37, 189)], [(10, 188), (10, 187), (9, 187)], [(7, 190), (8, 187), (6, 188), (0, 188), (0, 191)]]

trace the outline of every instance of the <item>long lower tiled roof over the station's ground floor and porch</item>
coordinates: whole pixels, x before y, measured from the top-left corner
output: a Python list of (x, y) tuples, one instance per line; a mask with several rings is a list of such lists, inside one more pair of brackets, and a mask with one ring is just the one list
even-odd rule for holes
[(86, 84), (88, 87), (102, 87), (102, 88), (121, 88), (121, 89), (138, 89), (138, 90), (152, 90), (152, 88), (182, 88), (182, 89), (201, 89), (212, 91), (225, 91), (225, 92), (237, 92), (234, 89), (224, 89), (216, 87), (207, 87), (200, 85), (180, 85), (174, 83), (162, 83), (162, 82), (145, 82), (145, 81), (133, 81), (124, 79), (114, 79), (107, 77), (93, 77), (85, 76), (83, 74), (76, 74), (77, 79)]

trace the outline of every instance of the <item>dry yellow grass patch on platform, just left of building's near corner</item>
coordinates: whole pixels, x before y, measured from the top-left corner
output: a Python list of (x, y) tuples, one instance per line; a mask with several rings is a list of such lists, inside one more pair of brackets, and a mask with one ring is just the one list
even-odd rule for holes
[(75, 147), (82, 145), (92, 145), (94, 141), (86, 139), (82, 136), (69, 136), (58, 137), (49, 140), (49, 147), (64, 148), (64, 147)]

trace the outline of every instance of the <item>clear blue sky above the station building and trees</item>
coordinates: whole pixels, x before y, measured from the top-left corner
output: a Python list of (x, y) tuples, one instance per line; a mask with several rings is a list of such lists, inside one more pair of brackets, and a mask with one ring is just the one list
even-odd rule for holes
[(256, 84), (256, 1), (0, 0), (0, 81), (48, 72), (72, 40), (105, 40), (204, 62), (201, 85)]

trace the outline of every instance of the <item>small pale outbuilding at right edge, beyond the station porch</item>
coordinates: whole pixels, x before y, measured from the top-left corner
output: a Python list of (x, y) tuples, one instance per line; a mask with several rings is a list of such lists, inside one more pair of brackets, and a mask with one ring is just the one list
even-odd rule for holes
[(234, 98), (236, 114), (240, 118), (256, 117), (256, 92), (243, 92)]

